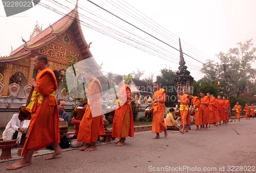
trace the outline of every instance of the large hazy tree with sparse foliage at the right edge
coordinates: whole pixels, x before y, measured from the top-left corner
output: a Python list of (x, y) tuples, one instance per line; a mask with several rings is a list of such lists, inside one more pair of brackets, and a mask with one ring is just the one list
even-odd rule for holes
[(228, 53), (219, 53), (220, 62), (208, 60), (201, 71), (205, 73), (202, 80), (209, 82), (220, 81), (224, 88), (224, 66), (226, 67), (227, 88), (230, 95), (239, 96), (240, 93), (249, 92), (251, 83), (255, 80), (256, 69), (251, 64), (256, 60), (256, 47), (252, 47), (252, 39), (245, 43), (238, 43), (238, 47), (230, 48)]

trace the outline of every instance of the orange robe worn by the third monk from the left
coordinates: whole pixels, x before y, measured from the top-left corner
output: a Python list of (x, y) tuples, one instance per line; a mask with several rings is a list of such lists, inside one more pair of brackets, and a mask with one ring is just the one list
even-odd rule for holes
[[(118, 95), (118, 99), (121, 101), (121, 107), (118, 107), (118, 104), (116, 105), (117, 109), (113, 118), (112, 137), (118, 137), (119, 139), (127, 136), (134, 137), (133, 110), (130, 105), (132, 93), (129, 85), (124, 84), (121, 86)], [(126, 111), (129, 112), (129, 117), (124, 118)], [(121, 134), (121, 132), (125, 133)]]

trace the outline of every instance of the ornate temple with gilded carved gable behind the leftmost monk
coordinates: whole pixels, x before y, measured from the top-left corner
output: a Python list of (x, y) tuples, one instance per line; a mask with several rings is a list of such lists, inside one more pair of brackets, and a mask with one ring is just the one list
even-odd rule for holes
[[(55, 73), (58, 83), (56, 98), (62, 97), (65, 100), (72, 98), (62, 85), (65, 82), (63, 78), (68, 68), (67, 63), (72, 63), (74, 60), (70, 57), (86, 60), (82, 68), (92, 68), (102, 88), (108, 87), (108, 81), (103, 76), (101, 67), (90, 52), (90, 44), (84, 39), (79, 21), (76, 3), (74, 10), (47, 29), (42, 30), (36, 23), (29, 40), (22, 38), (23, 45), (11, 51), (9, 56), (0, 57), (0, 112), (4, 110), (3, 108), (8, 108), (12, 113), (16, 112), (20, 104), (26, 103), (31, 89), (30, 82), (37, 74), (34, 57), (40, 54), (47, 56), (48, 67)], [(10, 113), (9, 116), (12, 114)], [(6, 117), (7, 122), (10, 119), (8, 117)], [(3, 127), (1, 123), (0, 127)]]

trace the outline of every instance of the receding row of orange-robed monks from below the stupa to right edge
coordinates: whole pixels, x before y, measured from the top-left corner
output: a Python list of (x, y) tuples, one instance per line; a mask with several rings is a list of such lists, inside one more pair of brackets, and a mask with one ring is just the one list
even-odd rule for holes
[[(218, 95), (215, 98), (214, 94), (200, 92), (201, 99), (193, 94), (185, 94), (182, 90), (178, 90), (180, 95), (180, 115), (181, 115), (181, 133), (188, 132), (187, 124), (191, 123), (190, 114), (195, 115), (195, 130), (207, 129), (208, 125), (213, 124), (215, 127), (223, 124), (228, 125), (229, 112), (230, 112), (230, 102), (227, 100), (226, 96), (221, 97)], [(189, 110), (189, 102), (191, 100), (192, 109)], [(240, 114), (242, 112), (241, 105), (237, 103), (232, 109), (236, 113), (236, 118), (240, 121)], [(245, 116), (244, 118), (252, 118), (255, 116), (255, 107), (249, 107), (247, 104), (245, 106)], [(250, 114), (249, 114), (250, 113)], [(199, 128), (200, 126), (200, 128)]]

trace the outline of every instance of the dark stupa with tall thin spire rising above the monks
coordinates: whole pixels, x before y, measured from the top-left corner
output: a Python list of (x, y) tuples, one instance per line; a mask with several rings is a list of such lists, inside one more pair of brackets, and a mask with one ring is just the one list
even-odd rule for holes
[(176, 72), (177, 77), (174, 79), (174, 81), (176, 82), (178, 89), (182, 88), (183, 92), (185, 93), (193, 93), (194, 78), (189, 75), (190, 72), (187, 70), (187, 66), (185, 65), (186, 62), (183, 57), (180, 38), (179, 38), (179, 44), (180, 44), (180, 62), (179, 62), (180, 66), (179, 66), (179, 70)]

